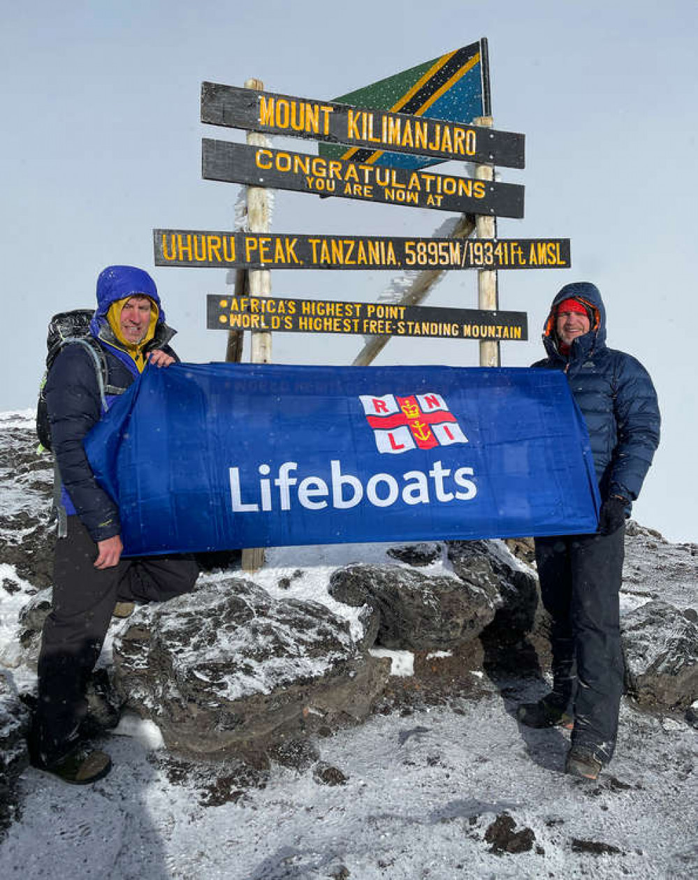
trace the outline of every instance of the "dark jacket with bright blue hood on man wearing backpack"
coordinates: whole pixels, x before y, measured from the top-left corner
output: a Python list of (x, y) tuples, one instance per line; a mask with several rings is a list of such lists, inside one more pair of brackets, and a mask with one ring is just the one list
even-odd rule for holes
[[(176, 357), (167, 345), (175, 331), (165, 325), (165, 312), (151, 276), (131, 266), (106, 268), (97, 280), (97, 309), (90, 329), (107, 362), (107, 407), (138, 376), (136, 363), (121, 348), (107, 321), (109, 306), (134, 294), (151, 297), (159, 310), (153, 339), (143, 350), (163, 348)], [(92, 355), (84, 346), (66, 345), (56, 357), (48, 372), (46, 401), (55, 465), (62, 482), (59, 534), (62, 516), (77, 513), (93, 540), (118, 535), (121, 532), (119, 512), (112, 499), (97, 485), (84, 454), (84, 437), (102, 416), (97, 370)]]

